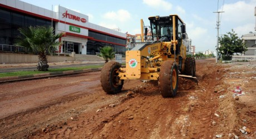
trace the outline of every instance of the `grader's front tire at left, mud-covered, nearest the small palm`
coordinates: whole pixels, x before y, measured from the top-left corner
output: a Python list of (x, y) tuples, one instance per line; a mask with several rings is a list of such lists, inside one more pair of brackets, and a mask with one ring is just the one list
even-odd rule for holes
[(120, 67), (120, 63), (111, 61), (101, 69), (101, 87), (107, 94), (119, 93), (122, 90), (124, 80), (121, 80), (121, 85), (119, 85), (118, 73), (116, 73)]

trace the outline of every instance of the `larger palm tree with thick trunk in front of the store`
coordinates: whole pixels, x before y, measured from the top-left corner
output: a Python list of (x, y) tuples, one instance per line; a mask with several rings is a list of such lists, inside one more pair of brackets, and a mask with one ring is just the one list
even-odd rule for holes
[(15, 44), (38, 54), (38, 71), (48, 71), (46, 54), (56, 51), (57, 46), (61, 44), (56, 39), (60, 38), (62, 33), (53, 34), (54, 29), (51, 26), (22, 27), (18, 31), (22, 35), (15, 39)]

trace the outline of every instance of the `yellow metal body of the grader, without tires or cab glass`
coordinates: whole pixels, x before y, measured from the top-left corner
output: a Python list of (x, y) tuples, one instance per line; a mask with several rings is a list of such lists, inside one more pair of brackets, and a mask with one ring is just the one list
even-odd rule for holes
[[(176, 62), (177, 65), (181, 63), (179, 61), (182, 61), (181, 72), (185, 70), (186, 47), (182, 43), (182, 39), (179, 40), (181, 41), (179, 43), (180, 52), (175, 54), (176, 47), (178, 47), (175, 17), (174, 15), (172, 18), (173, 39), (171, 41), (147, 43), (139, 50), (126, 51), (126, 67), (120, 68), (118, 71), (120, 80), (158, 80), (161, 63), (166, 60)], [(141, 34), (143, 34), (143, 28), (141, 29)], [(171, 53), (171, 49), (173, 49), (174, 53)]]

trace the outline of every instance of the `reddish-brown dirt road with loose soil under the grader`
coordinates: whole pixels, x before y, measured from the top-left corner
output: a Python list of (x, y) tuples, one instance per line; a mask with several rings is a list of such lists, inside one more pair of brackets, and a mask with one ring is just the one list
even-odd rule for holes
[(174, 98), (156, 81), (106, 95), (100, 72), (4, 83), (0, 138), (256, 138), (256, 67), (214, 62), (196, 61)]

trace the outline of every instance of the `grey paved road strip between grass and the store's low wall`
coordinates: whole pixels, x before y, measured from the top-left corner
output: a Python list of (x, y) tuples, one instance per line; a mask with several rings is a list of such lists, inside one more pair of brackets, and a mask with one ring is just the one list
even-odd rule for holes
[[(104, 62), (51, 65), (49, 67), (49, 69), (63, 68), (63, 67), (81, 67), (81, 66), (89, 66), (89, 65), (92, 66), (92, 65), (100, 65), (100, 64), (104, 64)], [(33, 71), (35, 69), (36, 69), (36, 66), (0, 68), (0, 73), (3, 73), (3, 72), (15, 72), (15, 71)]]

